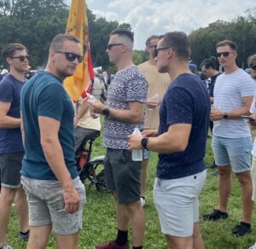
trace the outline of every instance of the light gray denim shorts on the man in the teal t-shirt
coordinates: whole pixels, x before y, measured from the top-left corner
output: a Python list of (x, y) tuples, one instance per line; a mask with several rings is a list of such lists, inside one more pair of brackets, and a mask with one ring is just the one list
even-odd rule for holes
[(55, 180), (37, 180), (21, 176), (29, 208), (29, 225), (32, 227), (52, 225), (56, 235), (73, 235), (82, 229), (83, 207), (85, 204), (84, 184), (79, 177), (73, 184), (80, 197), (79, 210), (64, 212), (61, 184)]

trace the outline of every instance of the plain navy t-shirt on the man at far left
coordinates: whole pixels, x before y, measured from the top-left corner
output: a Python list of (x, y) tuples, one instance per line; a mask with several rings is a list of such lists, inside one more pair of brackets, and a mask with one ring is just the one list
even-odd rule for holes
[[(24, 82), (9, 74), (0, 82), (0, 101), (10, 102), (8, 116), (20, 119), (20, 90)], [(0, 128), (0, 154), (22, 153), (24, 151), (20, 127)]]

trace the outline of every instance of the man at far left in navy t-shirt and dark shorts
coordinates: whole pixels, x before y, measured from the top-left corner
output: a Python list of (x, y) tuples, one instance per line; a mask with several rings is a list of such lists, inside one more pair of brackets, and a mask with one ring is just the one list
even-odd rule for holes
[(0, 248), (10, 249), (11, 246), (6, 245), (6, 234), (14, 200), (20, 222), (18, 237), (27, 240), (29, 236), (26, 194), (20, 184), (24, 155), (20, 132), (20, 90), (25, 84), (29, 55), (20, 43), (9, 43), (2, 54), (9, 66), (9, 75), (0, 82)]

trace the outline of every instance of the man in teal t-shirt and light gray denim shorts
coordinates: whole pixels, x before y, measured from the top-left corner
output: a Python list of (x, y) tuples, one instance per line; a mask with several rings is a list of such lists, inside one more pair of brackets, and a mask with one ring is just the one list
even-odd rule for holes
[(73, 104), (62, 83), (82, 60), (78, 38), (55, 36), (45, 70), (21, 91), (25, 156), (20, 173), (31, 227), (27, 249), (46, 248), (51, 230), (57, 248), (78, 248), (85, 191), (74, 160)]

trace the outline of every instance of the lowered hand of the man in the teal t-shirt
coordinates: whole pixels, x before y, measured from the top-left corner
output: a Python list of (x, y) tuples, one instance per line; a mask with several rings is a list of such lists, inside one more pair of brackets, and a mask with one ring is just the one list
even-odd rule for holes
[(79, 210), (79, 193), (73, 186), (71, 188), (63, 188), (63, 198), (65, 203), (65, 212), (73, 213)]

